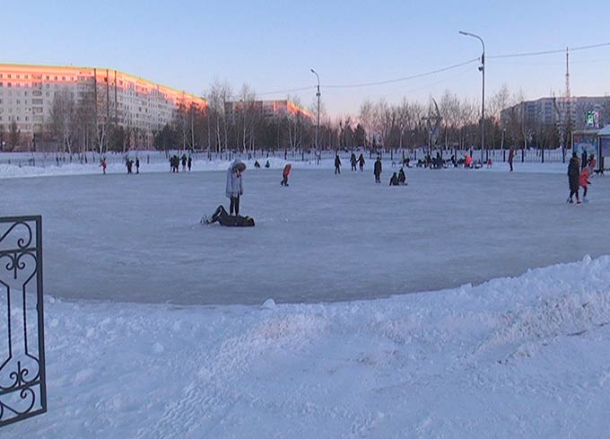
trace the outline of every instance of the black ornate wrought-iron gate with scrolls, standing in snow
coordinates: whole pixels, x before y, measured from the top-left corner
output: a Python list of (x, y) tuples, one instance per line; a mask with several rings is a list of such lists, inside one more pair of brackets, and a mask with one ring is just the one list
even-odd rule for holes
[(0, 426), (47, 411), (40, 216), (0, 217)]

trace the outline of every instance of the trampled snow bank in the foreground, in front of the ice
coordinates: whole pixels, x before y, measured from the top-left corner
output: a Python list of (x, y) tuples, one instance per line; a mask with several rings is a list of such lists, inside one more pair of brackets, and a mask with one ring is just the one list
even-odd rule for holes
[(610, 427), (606, 256), (349, 303), (48, 297), (45, 309), (48, 413), (3, 438), (601, 438)]

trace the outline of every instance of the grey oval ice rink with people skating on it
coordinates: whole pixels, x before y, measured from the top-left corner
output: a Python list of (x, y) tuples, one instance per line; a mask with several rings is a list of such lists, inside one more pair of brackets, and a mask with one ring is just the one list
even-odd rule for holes
[(610, 180), (569, 206), (564, 173), (248, 169), (254, 228), (202, 225), (225, 172), (0, 180), (2, 215), (43, 217), (45, 293), (141, 303), (343, 301), (433, 291), (606, 254)]

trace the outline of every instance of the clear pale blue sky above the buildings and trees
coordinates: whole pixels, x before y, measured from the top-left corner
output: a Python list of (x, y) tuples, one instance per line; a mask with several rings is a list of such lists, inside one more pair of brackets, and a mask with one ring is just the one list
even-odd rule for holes
[[(0, 0), (0, 63), (102, 66), (203, 94), (214, 82), (260, 99), (315, 101), (320, 76), (329, 117), (356, 115), (364, 100), (429, 101), (445, 92), (480, 101), (477, 62), (420, 78), (370, 83), (441, 69), (481, 56), (485, 90), (506, 84), (537, 99), (565, 90), (565, 54), (493, 55), (610, 43), (610, 2), (512, 1), (115, 1)], [(571, 53), (571, 94), (610, 94), (610, 45)], [(307, 88), (297, 92), (286, 90)]]

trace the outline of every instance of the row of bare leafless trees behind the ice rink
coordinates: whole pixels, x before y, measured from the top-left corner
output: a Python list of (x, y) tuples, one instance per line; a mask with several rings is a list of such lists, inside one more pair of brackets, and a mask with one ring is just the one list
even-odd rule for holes
[[(119, 123), (116, 104), (107, 97), (104, 100), (103, 93), (101, 97), (97, 94), (94, 88), (85, 88), (77, 96), (68, 90), (56, 92), (45, 132), (58, 149), (100, 154), (151, 146), (159, 150), (287, 152), (310, 150), (315, 139), (315, 118), (301, 112), (270, 115), (247, 84), (233, 92), (226, 82), (213, 83), (205, 93), (205, 110), (179, 105), (170, 123), (155, 130), (153, 136), (144, 129)], [(301, 106), (297, 97), (287, 99)], [(522, 101), (525, 101), (522, 92), (511, 94), (502, 86), (485, 102), (487, 148), (513, 145), (548, 148), (569, 138), (569, 133), (562, 132), (557, 124), (527, 119), (523, 107), (515, 105)], [(477, 101), (460, 99), (446, 91), (440, 97), (431, 96), (426, 103), (407, 98), (397, 104), (366, 100), (355, 117), (331, 119), (322, 110), (318, 143), (322, 149), (335, 150), (361, 146), (375, 150), (423, 145), (445, 149), (478, 147), (479, 106)], [(315, 115), (315, 106), (310, 107), (310, 114)], [(610, 105), (608, 110), (610, 116)], [(3, 131), (0, 136), (4, 136)]]

